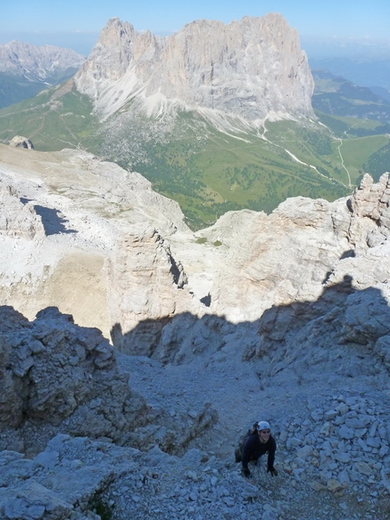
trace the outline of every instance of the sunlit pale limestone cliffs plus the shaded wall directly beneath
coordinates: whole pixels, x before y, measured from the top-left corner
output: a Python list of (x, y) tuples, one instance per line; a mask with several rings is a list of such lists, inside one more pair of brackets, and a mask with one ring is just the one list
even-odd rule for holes
[(332, 309), (335, 341), (384, 336), (388, 173), (338, 201), (229, 211), (194, 233), (137, 173), (80, 151), (1, 152), (0, 297), (29, 319), (56, 306), (122, 352), (163, 362), (240, 338), (253, 354)]

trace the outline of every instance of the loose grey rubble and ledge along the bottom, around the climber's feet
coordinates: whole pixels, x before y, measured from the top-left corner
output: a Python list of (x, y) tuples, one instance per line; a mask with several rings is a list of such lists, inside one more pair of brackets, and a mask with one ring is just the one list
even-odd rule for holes
[(305, 413), (275, 433), (275, 478), (262, 460), (250, 463), (249, 481), (232, 456), (222, 461), (196, 448), (170, 456), (155, 445), (140, 451), (63, 434), (31, 459), (3, 451), (1, 517), (385, 520), (389, 415), (356, 396), (309, 399)]

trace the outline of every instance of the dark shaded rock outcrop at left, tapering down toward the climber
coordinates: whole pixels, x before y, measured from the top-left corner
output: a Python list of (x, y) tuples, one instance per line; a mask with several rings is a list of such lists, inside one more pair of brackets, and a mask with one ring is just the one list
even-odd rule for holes
[(210, 403), (174, 420), (152, 409), (102, 332), (55, 307), (30, 322), (0, 306), (0, 388), (0, 450), (34, 454), (61, 433), (180, 454), (217, 420)]

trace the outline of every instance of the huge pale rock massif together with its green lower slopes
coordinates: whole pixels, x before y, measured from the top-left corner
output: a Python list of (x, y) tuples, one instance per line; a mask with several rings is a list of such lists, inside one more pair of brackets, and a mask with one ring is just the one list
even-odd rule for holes
[(73, 79), (0, 112), (0, 140), (23, 134), (37, 150), (77, 147), (140, 172), (194, 229), (297, 195), (332, 201), (388, 169), (385, 96), (327, 71), (314, 81), (281, 15), (167, 37), (113, 18), (76, 58)]

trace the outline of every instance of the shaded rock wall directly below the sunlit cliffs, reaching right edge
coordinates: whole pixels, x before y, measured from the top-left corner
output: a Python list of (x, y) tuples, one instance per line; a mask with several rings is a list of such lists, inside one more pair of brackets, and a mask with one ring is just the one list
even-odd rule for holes
[[(328, 283), (325, 280), (325, 283)], [(144, 320), (127, 333), (112, 328), (112, 344), (128, 355), (148, 356), (161, 363), (185, 364), (239, 351), (242, 360), (275, 358), (286, 350), (363, 345), (390, 367), (390, 308), (381, 290), (356, 289), (351, 276), (324, 284), (316, 301), (273, 306), (253, 322), (230, 323), (223, 316), (190, 312)], [(388, 352), (388, 353), (387, 353)], [(292, 352), (289, 356), (296, 358)]]

